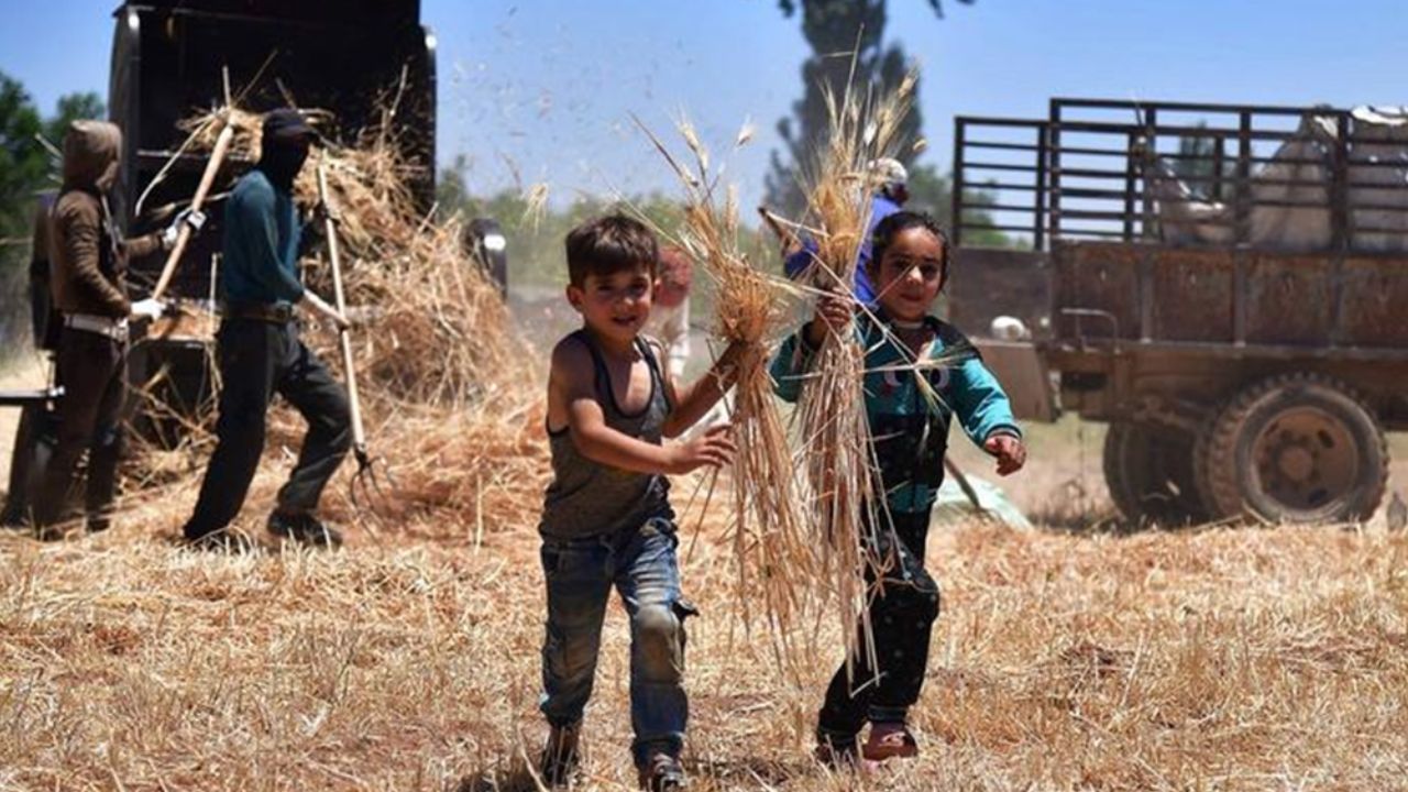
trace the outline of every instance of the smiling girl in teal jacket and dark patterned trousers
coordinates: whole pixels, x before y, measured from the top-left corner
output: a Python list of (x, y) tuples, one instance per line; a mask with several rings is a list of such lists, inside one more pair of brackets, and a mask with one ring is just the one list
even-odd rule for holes
[[(876, 227), (873, 248), (876, 307), (855, 317), (855, 331), (866, 349), (862, 386), (880, 468), (877, 492), (886, 493), (886, 509), (873, 510), (886, 524), (866, 531), (874, 537), (866, 540), (869, 551), (886, 569), (869, 613), (879, 667), (870, 668), (862, 652), (852, 658), (852, 674), (842, 664), (832, 676), (817, 724), (818, 757), (828, 762), (855, 761), (857, 748), (874, 761), (918, 754), (905, 717), (919, 698), (939, 614), (939, 588), (924, 568), (924, 550), (949, 423), (956, 417), (997, 458), (1001, 475), (1026, 458), (997, 378), (957, 330), (929, 316), (948, 276), (943, 231), (926, 214), (900, 211)], [(783, 342), (772, 365), (781, 399), (797, 400), (815, 351), (831, 327), (852, 320), (852, 310), (848, 300), (824, 297), (812, 320)], [(870, 736), (859, 745), (867, 722)]]

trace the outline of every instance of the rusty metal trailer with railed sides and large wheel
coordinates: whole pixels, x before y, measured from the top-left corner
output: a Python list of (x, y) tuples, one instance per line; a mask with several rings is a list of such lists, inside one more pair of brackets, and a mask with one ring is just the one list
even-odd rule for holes
[[(1324, 168), (1325, 189), (1267, 199), (1267, 185), (1311, 186), (1259, 173), (1308, 117), (1333, 142), (1293, 162)], [(1329, 107), (1053, 99), (1045, 120), (957, 117), (952, 317), (1032, 328), (979, 345), (1025, 417), (1110, 424), (1104, 474), (1129, 520), (1366, 519), (1384, 431), (1408, 428), (1408, 196), (1394, 192), (1408, 183), (1352, 173), (1404, 168), (1408, 151), (1380, 162), (1363, 145), (1352, 111)], [(1169, 240), (1150, 155), (1184, 163), (1190, 203), (1231, 207), (1225, 241)], [(1359, 204), (1394, 221), (1364, 223), (1356, 189), (1397, 196)], [(1328, 244), (1249, 241), (1266, 206), (1328, 211)], [(1015, 247), (969, 244), (983, 231)]]

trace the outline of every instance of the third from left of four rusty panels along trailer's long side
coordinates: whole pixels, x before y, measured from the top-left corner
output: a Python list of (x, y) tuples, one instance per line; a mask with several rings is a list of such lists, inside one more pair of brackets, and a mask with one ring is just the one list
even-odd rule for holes
[(1260, 254), (1247, 261), (1249, 344), (1329, 344), (1335, 283), (1325, 256)]

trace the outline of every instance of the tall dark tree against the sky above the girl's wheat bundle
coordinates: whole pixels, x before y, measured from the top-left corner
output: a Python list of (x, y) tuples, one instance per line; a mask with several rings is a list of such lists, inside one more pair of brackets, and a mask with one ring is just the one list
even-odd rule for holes
[[(925, 1), (936, 16), (942, 16), (942, 0)], [(973, 0), (959, 1), (967, 4)], [(898, 85), (908, 70), (910, 59), (901, 47), (884, 45), (886, 0), (779, 0), (777, 6), (788, 17), (801, 10), (803, 35), (812, 51), (801, 66), (804, 94), (793, 103), (793, 114), (777, 121), (783, 151), (773, 151), (766, 179), (767, 203), (784, 213), (797, 214), (804, 209), (804, 199), (796, 172), (810, 162), (826, 134), (822, 86), (828, 86), (835, 96), (845, 92), (852, 70), (852, 51), (856, 54), (856, 83), (881, 90)], [(918, 140), (921, 127), (922, 117), (915, 106), (905, 121), (901, 140)], [(914, 151), (904, 148), (900, 158), (908, 166)]]

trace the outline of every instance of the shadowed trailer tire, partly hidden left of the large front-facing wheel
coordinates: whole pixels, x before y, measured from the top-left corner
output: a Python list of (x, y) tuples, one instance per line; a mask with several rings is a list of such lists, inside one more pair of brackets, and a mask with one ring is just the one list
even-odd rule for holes
[(1105, 483), (1131, 523), (1186, 526), (1207, 520), (1193, 476), (1193, 438), (1176, 430), (1112, 423), (1105, 434)]

